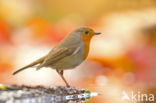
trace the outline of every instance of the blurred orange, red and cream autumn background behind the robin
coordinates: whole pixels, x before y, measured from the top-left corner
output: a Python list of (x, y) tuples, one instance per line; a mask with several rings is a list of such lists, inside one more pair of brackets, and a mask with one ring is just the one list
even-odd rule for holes
[(88, 103), (130, 103), (124, 91), (156, 94), (155, 0), (0, 0), (0, 83), (65, 85), (50, 68), (12, 73), (81, 26), (102, 34), (65, 78), (100, 93)]

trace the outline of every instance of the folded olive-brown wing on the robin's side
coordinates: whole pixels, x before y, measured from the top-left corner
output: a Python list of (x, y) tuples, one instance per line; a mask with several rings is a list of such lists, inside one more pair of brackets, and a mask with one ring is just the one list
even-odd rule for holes
[(44, 62), (37, 67), (37, 70), (40, 69), (41, 67), (56, 63), (67, 56), (76, 54), (80, 50), (80, 48), (81, 45), (73, 45), (72, 47), (69, 48), (57, 48), (52, 50), (47, 55)]

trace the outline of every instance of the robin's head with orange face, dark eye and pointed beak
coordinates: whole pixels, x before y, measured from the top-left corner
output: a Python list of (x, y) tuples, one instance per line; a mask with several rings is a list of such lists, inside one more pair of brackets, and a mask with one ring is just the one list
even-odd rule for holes
[(93, 29), (89, 27), (81, 27), (77, 30), (74, 31), (76, 35), (80, 37), (82, 41), (90, 41), (90, 39), (94, 35), (99, 35), (101, 34), (100, 32), (95, 32)]

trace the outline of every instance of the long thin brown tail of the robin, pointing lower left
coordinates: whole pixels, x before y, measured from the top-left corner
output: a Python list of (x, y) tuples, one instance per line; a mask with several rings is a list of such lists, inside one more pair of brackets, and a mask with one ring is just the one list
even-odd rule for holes
[(17, 73), (19, 73), (19, 72), (21, 72), (21, 71), (23, 71), (23, 70), (25, 70), (25, 69), (27, 69), (27, 68), (29, 68), (29, 67), (32, 67), (32, 66), (34, 66), (34, 65), (37, 65), (37, 64), (42, 63), (42, 62), (44, 61), (45, 57), (46, 57), (46, 56), (41, 57), (41, 58), (37, 59), (36, 61), (32, 62), (31, 64), (29, 64), (29, 65), (27, 65), (27, 66), (25, 66), (25, 67), (23, 67), (23, 68), (21, 68), (21, 69), (15, 71), (15, 72), (13, 73), (13, 75), (16, 75)]

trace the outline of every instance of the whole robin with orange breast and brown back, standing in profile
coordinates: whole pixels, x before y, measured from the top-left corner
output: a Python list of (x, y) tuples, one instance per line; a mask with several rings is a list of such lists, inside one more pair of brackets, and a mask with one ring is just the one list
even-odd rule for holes
[(91, 39), (94, 35), (99, 34), (101, 33), (95, 32), (90, 27), (80, 27), (69, 33), (63, 40), (57, 43), (47, 55), (18, 69), (13, 72), (13, 75), (33, 66), (36, 66), (36, 70), (39, 70), (42, 67), (50, 67), (55, 69), (65, 82), (66, 86), (70, 87), (64, 78), (64, 70), (74, 69), (87, 58)]

